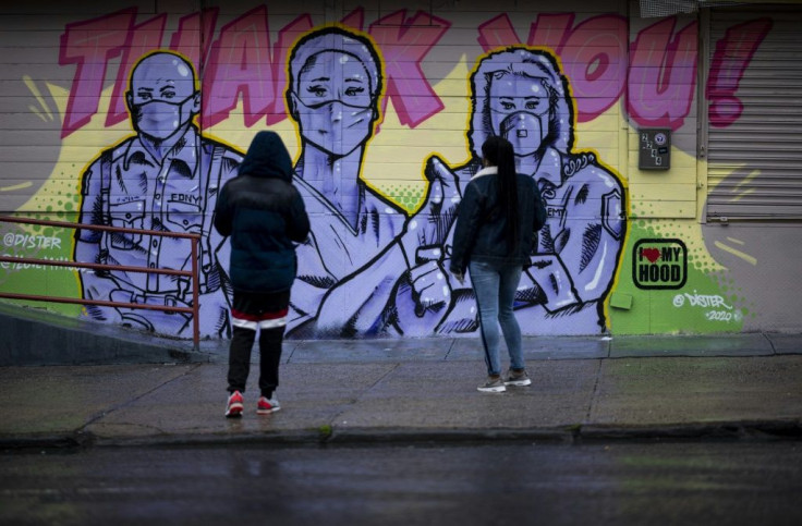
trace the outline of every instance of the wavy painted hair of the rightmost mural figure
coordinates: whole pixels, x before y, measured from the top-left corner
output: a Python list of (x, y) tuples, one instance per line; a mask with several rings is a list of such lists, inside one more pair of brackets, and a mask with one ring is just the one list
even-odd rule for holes
[(493, 130), (490, 118), (490, 84), (509, 74), (545, 81), (549, 94), (549, 122), (544, 144), (567, 154), (573, 146), (573, 103), (570, 100), (568, 79), (560, 73), (551, 53), (525, 47), (510, 47), (483, 58), (471, 75), (473, 113), (467, 138), (474, 157), (482, 157), (482, 145), (489, 135), (498, 134), (498, 130)]

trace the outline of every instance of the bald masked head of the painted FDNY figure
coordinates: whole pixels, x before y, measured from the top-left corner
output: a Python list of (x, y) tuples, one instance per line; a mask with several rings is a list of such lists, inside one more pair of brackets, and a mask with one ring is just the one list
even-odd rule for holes
[(170, 54), (143, 59), (126, 96), (134, 129), (156, 143), (184, 130), (200, 109), (192, 69)]

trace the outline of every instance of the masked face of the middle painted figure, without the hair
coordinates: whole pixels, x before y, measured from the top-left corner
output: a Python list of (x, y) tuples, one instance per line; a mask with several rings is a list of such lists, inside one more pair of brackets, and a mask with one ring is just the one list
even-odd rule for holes
[(347, 156), (373, 132), (370, 77), (359, 59), (324, 51), (307, 61), (292, 94), (301, 135), (318, 148)]

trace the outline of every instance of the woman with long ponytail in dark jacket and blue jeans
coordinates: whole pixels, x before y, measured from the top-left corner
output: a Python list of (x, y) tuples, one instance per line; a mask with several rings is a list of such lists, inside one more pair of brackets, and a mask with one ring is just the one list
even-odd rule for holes
[[(513, 314), (521, 273), (530, 262), (535, 234), (546, 222), (546, 208), (535, 180), (515, 172), (512, 144), (491, 136), (482, 145), (485, 168), (465, 187), (457, 212), (449, 270), (459, 282), (465, 270), (479, 311), (487, 381), (483, 392), (503, 392), (506, 386), (532, 381), (521, 348), (521, 328)], [(510, 355), (501, 378), (499, 325)]]

